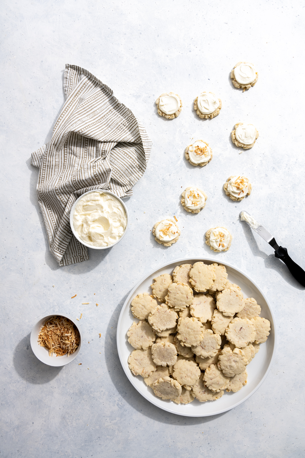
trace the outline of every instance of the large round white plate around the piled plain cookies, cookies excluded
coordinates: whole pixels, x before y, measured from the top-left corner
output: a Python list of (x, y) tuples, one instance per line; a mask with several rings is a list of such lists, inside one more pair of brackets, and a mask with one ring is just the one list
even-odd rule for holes
[(128, 356), (134, 350), (134, 348), (128, 343), (127, 331), (132, 323), (138, 322), (136, 318), (132, 315), (130, 311), (130, 302), (134, 299), (139, 293), (148, 292), (151, 294), (150, 285), (154, 283), (153, 278), (161, 275), (161, 273), (172, 273), (173, 269), (180, 264), (194, 264), (195, 262), (203, 261), (206, 264), (211, 264), (212, 262), (219, 262), (219, 259), (212, 258), (182, 258), (177, 259), (173, 262), (168, 262), (167, 264), (161, 266), (159, 269), (150, 272), (141, 281), (132, 289), (128, 298), (125, 300), (122, 307), (120, 316), (118, 318), (118, 328), (117, 328), (117, 345), (118, 345), (118, 355), (125, 371), (126, 376), (129, 381), (134, 385), (136, 390), (139, 391), (144, 398), (146, 398), (151, 403), (155, 404), (160, 409), (171, 412), (172, 414), (184, 415), (187, 417), (205, 417), (209, 415), (221, 414), (227, 410), (233, 409), (237, 405), (246, 401), (262, 384), (265, 378), (268, 375), (268, 372), (273, 363), (276, 349), (276, 328), (274, 322), (273, 312), (266, 296), (263, 294), (262, 290), (255, 284), (245, 273), (241, 272), (236, 267), (227, 264), (226, 262), (221, 262), (226, 267), (228, 273), (228, 279), (231, 283), (236, 283), (241, 287), (241, 291), (244, 297), (253, 297), (257, 304), (261, 305), (262, 312), (261, 316), (267, 318), (271, 323), (270, 335), (267, 339), (267, 342), (260, 345), (259, 352), (255, 355), (255, 358), (247, 365), (248, 372), (248, 382), (241, 388), (237, 393), (227, 393), (222, 396), (222, 398), (216, 401), (208, 401), (200, 403), (197, 399), (194, 399), (193, 402), (189, 404), (176, 404), (169, 400), (164, 400), (155, 396), (153, 390), (150, 387), (147, 387), (144, 379), (141, 376), (134, 376), (128, 367)]

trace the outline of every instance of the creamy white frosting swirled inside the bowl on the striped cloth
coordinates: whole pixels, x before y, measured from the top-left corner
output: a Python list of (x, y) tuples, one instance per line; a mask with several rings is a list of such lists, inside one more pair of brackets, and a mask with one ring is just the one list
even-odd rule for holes
[(76, 205), (73, 225), (80, 240), (88, 245), (109, 246), (122, 237), (127, 215), (114, 196), (102, 191), (90, 192)]

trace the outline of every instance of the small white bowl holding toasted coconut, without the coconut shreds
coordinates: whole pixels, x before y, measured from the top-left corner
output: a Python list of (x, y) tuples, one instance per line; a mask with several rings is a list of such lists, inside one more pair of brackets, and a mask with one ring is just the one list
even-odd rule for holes
[[(73, 324), (75, 324), (75, 327), (77, 328), (80, 334), (80, 344), (77, 347), (77, 349), (75, 350), (75, 352), (69, 354), (69, 356), (67, 355), (56, 356), (55, 354), (53, 354), (53, 356), (49, 356), (48, 349), (46, 347), (41, 347), (38, 344), (38, 334), (40, 333), (40, 330), (43, 327), (44, 323), (48, 319), (50, 319), (52, 316), (64, 316), (64, 318), (68, 318)], [(69, 364), (71, 361), (73, 361), (76, 358), (76, 356), (80, 353), (81, 341), (82, 341), (82, 335), (80, 332), (80, 328), (75, 323), (75, 320), (71, 316), (63, 315), (62, 313), (53, 313), (53, 315), (47, 315), (41, 318), (39, 321), (37, 321), (37, 323), (33, 327), (31, 337), (30, 337), (30, 342), (31, 342), (33, 353), (38, 358), (38, 360), (42, 361), (44, 364), (47, 364), (49, 366), (56, 366), (56, 367)]]

